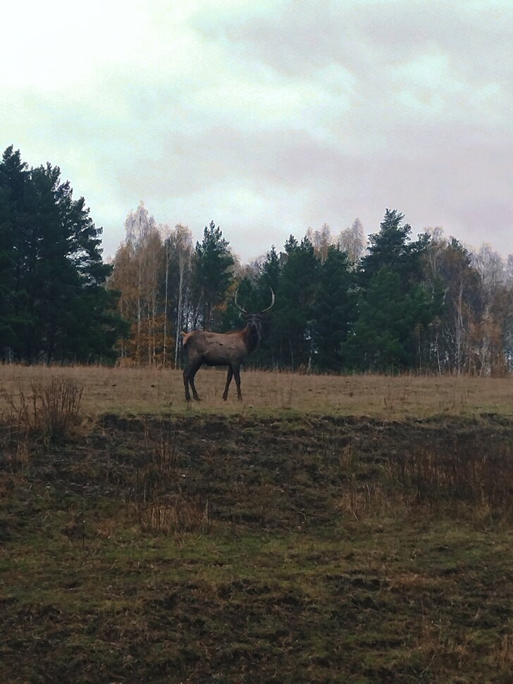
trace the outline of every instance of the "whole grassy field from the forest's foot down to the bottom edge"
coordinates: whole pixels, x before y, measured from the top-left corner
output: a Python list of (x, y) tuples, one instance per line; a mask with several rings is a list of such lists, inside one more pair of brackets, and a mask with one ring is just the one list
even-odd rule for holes
[(224, 377), (0, 367), (0, 681), (511, 682), (512, 381)]

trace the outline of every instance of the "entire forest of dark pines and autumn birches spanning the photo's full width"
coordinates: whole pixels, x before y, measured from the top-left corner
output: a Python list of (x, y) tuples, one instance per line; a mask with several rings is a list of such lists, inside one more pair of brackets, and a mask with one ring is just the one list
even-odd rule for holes
[(513, 257), (474, 251), (442, 228), (412, 235), (385, 209), (324, 224), (241, 264), (210, 221), (202, 239), (157, 224), (141, 202), (111, 264), (85, 200), (50, 164), (8, 147), (0, 164), (0, 352), (4, 361), (178, 367), (180, 331), (244, 326), (266, 313), (253, 367), (300, 372), (507, 374), (513, 367)]

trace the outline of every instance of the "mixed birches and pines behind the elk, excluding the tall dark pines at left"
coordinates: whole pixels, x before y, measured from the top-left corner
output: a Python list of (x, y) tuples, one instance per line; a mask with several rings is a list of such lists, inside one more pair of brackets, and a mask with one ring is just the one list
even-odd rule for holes
[(255, 367), (319, 372), (495, 374), (513, 362), (513, 262), (474, 254), (440, 228), (412, 238), (396, 209), (364, 237), (326, 224), (240, 264), (214, 221), (195, 244), (140, 204), (125, 223), (109, 286), (120, 293), (128, 363), (180, 365), (180, 331), (240, 328), (276, 293)]

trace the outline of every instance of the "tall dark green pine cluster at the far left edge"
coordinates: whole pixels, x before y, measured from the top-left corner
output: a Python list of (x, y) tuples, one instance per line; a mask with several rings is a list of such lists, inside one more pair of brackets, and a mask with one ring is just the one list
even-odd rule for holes
[(113, 355), (123, 328), (104, 283), (99, 235), (58, 167), (27, 169), (8, 147), (0, 164), (1, 286), (11, 297), (0, 329), (14, 358), (87, 360)]

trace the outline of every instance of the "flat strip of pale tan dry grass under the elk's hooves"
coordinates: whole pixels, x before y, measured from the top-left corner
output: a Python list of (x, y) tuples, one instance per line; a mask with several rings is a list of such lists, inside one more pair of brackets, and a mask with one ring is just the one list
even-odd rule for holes
[[(107, 367), (0, 366), (6, 393), (29, 392), (31, 384), (52, 378), (69, 379), (84, 387), (82, 408), (88, 415), (101, 413), (175, 413), (187, 410), (182, 374), (178, 370)], [(225, 370), (202, 369), (197, 388), (202, 402), (188, 410), (298, 411), (369, 415), (383, 420), (431, 415), (513, 415), (513, 379), (468, 377), (416, 377), (400, 375), (299, 375), (245, 371), (238, 402), (235, 387), (227, 402), (221, 394)], [(0, 405), (0, 410), (5, 408)]]

